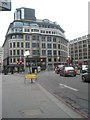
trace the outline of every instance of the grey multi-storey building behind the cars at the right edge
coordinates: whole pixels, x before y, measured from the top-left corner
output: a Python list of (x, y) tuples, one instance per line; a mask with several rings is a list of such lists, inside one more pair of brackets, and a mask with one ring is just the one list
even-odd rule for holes
[(90, 34), (76, 38), (69, 42), (69, 54), (73, 64), (88, 64), (90, 59)]

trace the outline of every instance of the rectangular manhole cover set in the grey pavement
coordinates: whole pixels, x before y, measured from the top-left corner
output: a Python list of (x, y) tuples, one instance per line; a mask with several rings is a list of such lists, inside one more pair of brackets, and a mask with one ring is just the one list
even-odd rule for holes
[(33, 115), (39, 115), (42, 114), (40, 108), (31, 108), (31, 109), (26, 109), (22, 111), (24, 117), (30, 117)]

